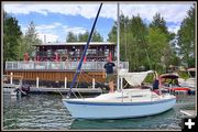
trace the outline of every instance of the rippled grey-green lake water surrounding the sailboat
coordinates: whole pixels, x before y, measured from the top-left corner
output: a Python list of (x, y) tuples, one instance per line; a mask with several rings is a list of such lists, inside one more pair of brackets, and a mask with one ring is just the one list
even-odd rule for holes
[[(3, 130), (182, 130), (180, 110), (195, 109), (195, 96), (177, 98), (176, 106), (157, 116), (120, 120), (74, 120), (61, 95), (3, 96)], [(98, 111), (100, 112), (100, 111)]]

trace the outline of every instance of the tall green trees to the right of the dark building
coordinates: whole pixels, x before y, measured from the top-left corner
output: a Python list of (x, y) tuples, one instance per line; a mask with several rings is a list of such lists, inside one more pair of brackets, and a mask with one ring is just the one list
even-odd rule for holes
[[(117, 22), (108, 41), (117, 42)], [(166, 70), (169, 65), (195, 67), (195, 7), (187, 12), (178, 33), (167, 30), (164, 18), (156, 13), (146, 24), (141, 16), (120, 15), (121, 61), (129, 62), (130, 70)]]

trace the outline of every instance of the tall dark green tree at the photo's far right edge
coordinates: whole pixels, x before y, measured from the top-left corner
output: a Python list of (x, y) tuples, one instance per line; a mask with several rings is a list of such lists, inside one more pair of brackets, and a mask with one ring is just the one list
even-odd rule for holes
[(187, 67), (195, 67), (195, 6), (187, 12), (177, 35), (182, 62)]

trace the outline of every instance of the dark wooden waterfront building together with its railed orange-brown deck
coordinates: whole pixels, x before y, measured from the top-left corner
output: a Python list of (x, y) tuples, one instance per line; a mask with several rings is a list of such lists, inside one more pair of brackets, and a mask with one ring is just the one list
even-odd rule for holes
[[(30, 85), (35, 85), (37, 78), (40, 85), (43, 86), (64, 87), (66, 80), (67, 87), (69, 87), (85, 45), (86, 42), (34, 45), (35, 54), (33, 57), (25, 55), (23, 62), (6, 62), (6, 74), (12, 73), (14, 76), (23, 76), (23, 80)], [(116, 61), (114, 43), (91, 42), (89, 44), (81, 73), (77, 78), (78, 87), (91, 86), (92, 81), (96, 84), (106, 81), (106, 78), (102, 77), (102, 70), (108, 56), (113, 62)], [(128, 62), (121, 62), (120, 65), (122, 68), (129, 69)]]

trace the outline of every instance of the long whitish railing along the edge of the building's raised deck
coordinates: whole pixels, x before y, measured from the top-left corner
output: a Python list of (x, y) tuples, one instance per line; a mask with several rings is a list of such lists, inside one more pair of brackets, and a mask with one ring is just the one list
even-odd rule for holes
[[(6, 70), (10, 69), (77, 69), (79, 62), (6, 62)], [(86, 62), (81, 69), (101, 70), (106, 62)], [(114, 62), (117, 65), (117, 63)], [(129, 69), (129, 62), (120, 62), (120, 67)]]

